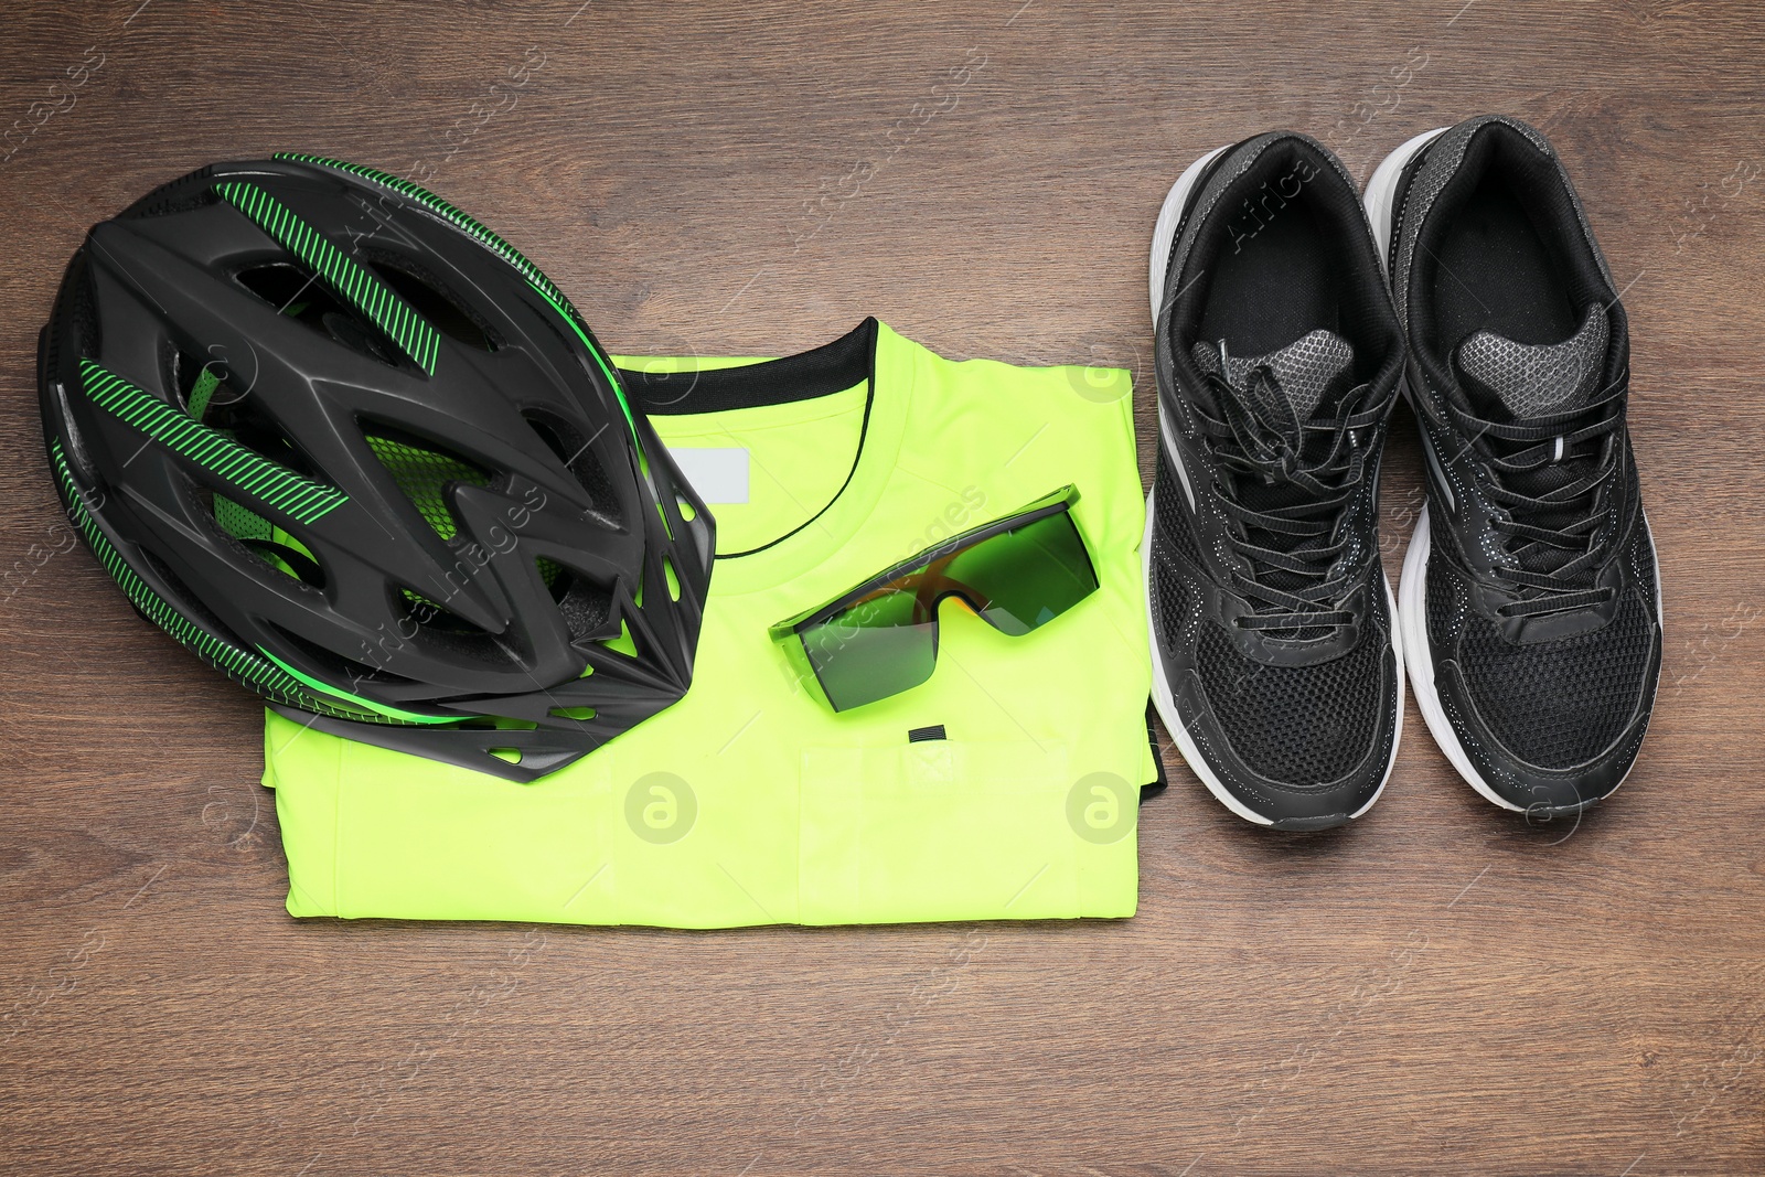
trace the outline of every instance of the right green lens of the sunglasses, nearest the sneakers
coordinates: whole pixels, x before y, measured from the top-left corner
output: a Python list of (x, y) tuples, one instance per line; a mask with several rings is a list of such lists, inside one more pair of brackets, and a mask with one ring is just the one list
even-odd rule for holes
[(957, 552), (943, 574), (988, 625), (1013, 637), (1047, 625), (1098, 588), (1068, 512), (981, 540)]

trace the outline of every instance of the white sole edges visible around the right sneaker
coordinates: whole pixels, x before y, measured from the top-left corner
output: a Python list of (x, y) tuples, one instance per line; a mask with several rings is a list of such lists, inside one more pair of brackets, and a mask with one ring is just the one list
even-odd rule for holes
[[(1423, 134), (1408, 139), (1394, 150), (1391, 155), (1373, 169), (1373, 176), (1366, 182), (1366, 191), (1361, 196), (1361, 203), (1366, 208), (1366, 219), (1373, 228), (1373, 242), (1378, 245), (1378, 265), (1386, 266), (1387, 277), (1391, 268), (1391, 231), (1393, 217), (1396, 214), (1394, 199), (1398, 191), (1398, 176), (1408, 166), (1410, 159), (1416, 157), (1423, 146), (1431, 143), (1435, 138), (1449, 131), (1449, 127), (1435, 127), (1433, 131), (1424, 131)], [(1414, 397), (1410, 395), (1408, 379), (1401, 381), (1403, 395), (1410, 399), (1410, 408), (1414, 409)], [(1645, 515), (1647, 521), (1647, 515)], [(1398, 632), (1403, 635), (1403, 648), (1408, 651), (1408, 672), (1410, 685), (1416, 692), (1416, 708), (1423, 713), (1423, 722), (1428, 725), (1428, 734), (1433, 736), (1440, 752), (1453, 764), (1460, 776), (1465, 778), (1472, 789), (1477, 791), (1490, 805), (1509, 810), (1513, 813), (1525, 813), (1527, 806), (1514, 805), (1506, 799), (1488, 782), (1477, 773), (1476, 766), (1470, 762), (1470, 753), (1465, 752), (1465, 745), (1458, 741), (1458, 732), (1453, 731), (1453, 722), (1446, 718), (1446, 709), (1440, 706), (1440, 692), (1435, 690), (1433, 678), (1433, 649), (1428, 644), (1428, 552), (1431, 549), (1430, 542), (1431, 531), (1428, 526), (1428, 506), (1423, 505), (1421, 515), (1416, 521), (1416, 531), (1410, 535), (1410, 545), (1403, 552), (1403, 577), (1398, 582), (1401, 600), (1398, 609)], [(1654, 529), (1649, 531), (1649, 551), (1654, 552)], [(1661, 561), (1654, 561), (1656, 572), (1656, 623), (1661, 625), (1663, 641), (1666, 635), (1664, 611), (1661, 600)], [(1633, 766), (1634, 768), (1634, 766)], [(1624, 782), (1629, 780), (1629, 769), (1624, 778), (1613, 785), (1610, 798), (1615, 794)]]

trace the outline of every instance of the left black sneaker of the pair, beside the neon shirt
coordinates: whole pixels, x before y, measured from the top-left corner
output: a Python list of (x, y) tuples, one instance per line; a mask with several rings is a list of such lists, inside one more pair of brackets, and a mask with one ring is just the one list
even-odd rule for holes
[(1153, 235), (1153, 699), (1234, 813), (1322, 829), (1398, 753), (1378, 455), (1403, 332), (1354, 180), (1303, 134), (1197, 161)]

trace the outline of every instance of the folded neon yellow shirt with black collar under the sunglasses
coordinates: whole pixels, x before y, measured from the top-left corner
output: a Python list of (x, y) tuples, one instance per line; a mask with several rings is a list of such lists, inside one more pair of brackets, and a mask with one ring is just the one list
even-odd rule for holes
[[(620, 365), (717, 514), (690, 692), (535, 783), (267, 713), (288, 911), (685, 928), (1131, 916), (1156, 764), (1128, 374), (953, 364), (874, 319), (785, 360)], [(768, 637), (1066, 484), (1100, 589), (1033, 633), (946, 602), (932, 679), (845, 713)]]

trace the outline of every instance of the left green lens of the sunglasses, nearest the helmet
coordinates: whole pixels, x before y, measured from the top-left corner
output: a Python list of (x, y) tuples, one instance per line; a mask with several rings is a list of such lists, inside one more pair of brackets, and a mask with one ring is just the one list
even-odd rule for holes
[(932, 678), (937, 618), (914, 602), (904, 577), (801, 630), (803, 653), (835, 711), (861, 708)]

